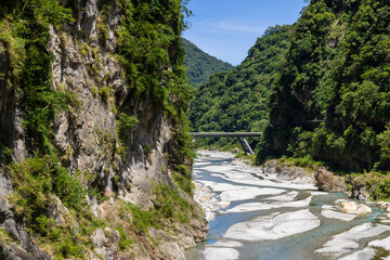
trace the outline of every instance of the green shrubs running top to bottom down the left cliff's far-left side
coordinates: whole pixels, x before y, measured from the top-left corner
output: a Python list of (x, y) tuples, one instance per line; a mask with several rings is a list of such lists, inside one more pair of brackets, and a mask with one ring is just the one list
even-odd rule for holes
[[(88, 240), (89, 234), (81, 227), (76, 238), (70, 226), (54, 225), (55, 221), (48, 214), (48, 208), (55, 202), (53, 195), (77, 212), (77, 218), (92, 221), (87, 213), (83, 187), (60, 165), (53, 145), (52, 122), (61, 110), (73, 104), (73, 98), (52, 87), (49, 26), (72, 23), (70, 13), (55, 0), (12, 1), (0, 9), (0, 41), (5, 44), (10, 58), (10, 68), (2, 80), (23, 96), (26, 138), (35, 155), (5, 167), (15, 187), (10, 202), (30, 233), (39, 235), (41, 242), (55, 245), (53, 253), (60, 259), (82, 257), (80, 243)], [(9, 141), (2, 140), (2, 145), (9, 145)]]

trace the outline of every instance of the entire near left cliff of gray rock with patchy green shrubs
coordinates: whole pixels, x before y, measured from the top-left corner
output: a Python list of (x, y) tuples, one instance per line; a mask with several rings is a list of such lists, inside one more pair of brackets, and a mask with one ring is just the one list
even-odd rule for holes
[(183, 10), (0, 4), (0, 259), (182, 259), (206, 238)]

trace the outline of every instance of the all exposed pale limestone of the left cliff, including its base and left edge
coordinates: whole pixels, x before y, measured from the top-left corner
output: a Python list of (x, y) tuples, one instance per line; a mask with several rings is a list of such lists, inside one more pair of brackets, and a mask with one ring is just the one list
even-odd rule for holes
[[(106, 8), (102, 14), (103, 3)], [(82, 186), (98, 188), (105, 202), (88, 196), (92, 213), (106, 227), (96, 227), (89, 236), (94, 249), (86, 259), (183, 259), (182, 250), (205, 239), (206, 221), (191, 196), (182, 192), (171, 177), (168, 162), (178, 148), (172, 122), (150, 99), (139, 99), (116, 58), (116, 31), (121, 15), (116, 0), (61, 0), (73, 11), (74, 23), (50, 26), (48, 50), (53, 54), (51, 82), (54, 90), (69, 93), (74, 103), (55, 115), (53, 145), (69, 176), (81, 176)], [(108, 11), (107, 11), (108, 10)], [(104, 26), (104, 37), (101, 27)], [(10, 67), (9, 49), (0, 41), (0, 73)], [(0, 235), (0, 258), (50, 259), (53, 255), (40, 248), (35, 235), (26, 232), (26, 223), (9, 203), (12, 182), (4, 167), (11, 161), (24, 161), (35, 154), (35, 147), (23, 126), (23, 93), (0, 82), (0, 143), (12, 154), (1, 153), (0, 224), (8, 233)], [(118, 115), (126, 113), (138, 119), (128, 129), (125, 141), (118, 136)], [(117, 214), (123, 202), (150, 209), (154, 205), (153, 185), (160, 183), (185, 198), (197, 217), (188, 216), (187, 224), (167, 220), (161, 230), (150, 227), (145, 233), (131, 231), (131, 212), (125, 223)], [(68, 221), (68, 209), (53, 196), (56, 222)], [(77, 225), (77, 220), (72, 220)], [(72, 222), (70, 221), (70, 222)], [(76, 222), (76, 223), (75, 223)], [(119, 233), (110, 223), (122, 224), (133, 239), (130, 248), (120, 249)], [(120, 223), (120, 224), (119, 224)], [(11, 240), (9, 237), (11, 237)]]

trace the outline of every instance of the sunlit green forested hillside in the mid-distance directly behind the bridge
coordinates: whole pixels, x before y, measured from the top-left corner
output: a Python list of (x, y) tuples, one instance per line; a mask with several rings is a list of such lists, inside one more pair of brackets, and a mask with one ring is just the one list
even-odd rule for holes
[[(290, 31), (288, 25), (270, 27), (240, 65), (212, 75), (200, 86), (188, 113), (194, 131), (262, 131), (268, 126), (266, 100)], [(226, 146), (234, 140), (198, 142)]]

